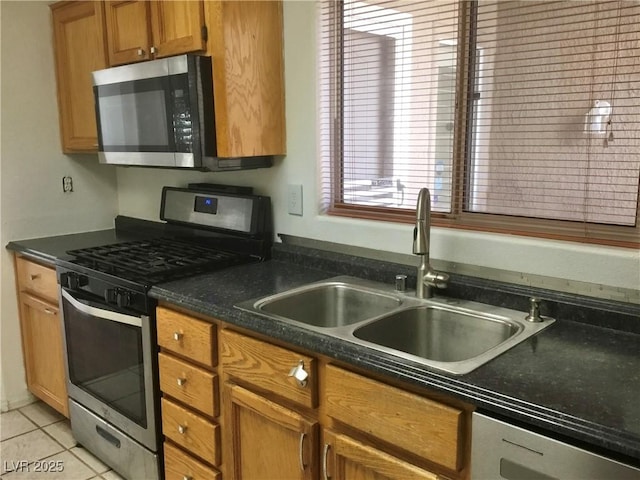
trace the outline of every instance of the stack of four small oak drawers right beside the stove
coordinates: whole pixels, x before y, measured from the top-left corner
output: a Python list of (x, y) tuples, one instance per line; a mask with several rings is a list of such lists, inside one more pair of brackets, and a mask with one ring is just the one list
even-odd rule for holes
[(167, 480), (219, 480), (222, 462), (216, 325), (156, 310)]

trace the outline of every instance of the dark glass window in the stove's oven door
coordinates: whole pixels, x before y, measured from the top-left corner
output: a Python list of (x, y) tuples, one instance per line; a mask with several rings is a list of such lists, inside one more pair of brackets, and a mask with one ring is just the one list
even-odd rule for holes
[(146, 428), (142, 329), (63, 308), (71, 383)]

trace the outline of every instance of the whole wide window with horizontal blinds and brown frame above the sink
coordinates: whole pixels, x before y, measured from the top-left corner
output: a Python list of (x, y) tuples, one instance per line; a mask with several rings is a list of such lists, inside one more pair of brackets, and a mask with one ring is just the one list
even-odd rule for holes
[(323, 205), (637, 246), (640, 4), (321, 3)]

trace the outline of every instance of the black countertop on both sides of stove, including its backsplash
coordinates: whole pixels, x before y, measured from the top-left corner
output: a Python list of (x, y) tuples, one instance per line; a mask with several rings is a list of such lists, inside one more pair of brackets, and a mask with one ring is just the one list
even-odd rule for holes
[[(7, 248), (53, 264), (67, 250), (131, 239), (135, 239), (131, 233), (110, 229), (15, 241)], [(535, 294), (546, 300), (548, 311), (543, 313), (557, 319), (477, 370), (454, 376), (234, 308), (245, 300), (344, 274), (389, 282), (394, 274), (405, 273), (409, 287), (415, 286), (413, 268), (313, 252), (277, 244), (271, 261), (157, 285), (150, 295), (407, 384), (438, 390), (485, 412), (640, 466), (639, 306), (452, 276), (448, 295), (525, 311), (528, 296)]]

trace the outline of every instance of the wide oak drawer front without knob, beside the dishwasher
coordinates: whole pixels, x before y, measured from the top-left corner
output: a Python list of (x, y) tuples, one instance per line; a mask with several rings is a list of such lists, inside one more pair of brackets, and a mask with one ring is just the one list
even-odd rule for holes
[(327, 366), (327, 413), (451, 470), (463, 460), (464, 411)]

